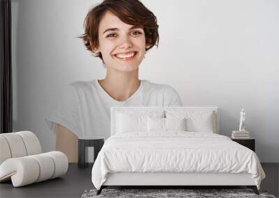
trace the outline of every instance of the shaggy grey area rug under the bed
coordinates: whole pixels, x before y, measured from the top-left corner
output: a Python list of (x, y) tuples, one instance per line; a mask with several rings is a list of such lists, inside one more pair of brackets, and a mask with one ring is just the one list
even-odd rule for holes
[(266, 191), (259, 190), (259, 195), (255, 195), (252, 189), (103, 189), (100, 195), (96, 195), (97, 190), (85, 190), (82, 198), (93, 197), (264, 197), (276, 198), (273, 195), (268, 195)]

